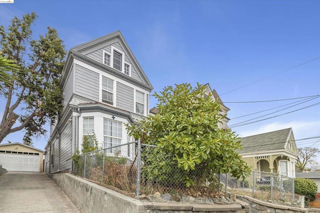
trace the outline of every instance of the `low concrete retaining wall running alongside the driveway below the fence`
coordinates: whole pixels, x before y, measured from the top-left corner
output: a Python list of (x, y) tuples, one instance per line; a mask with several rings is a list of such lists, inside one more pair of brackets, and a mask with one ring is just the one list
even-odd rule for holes
[(51, 174), (81, 213), (245, 213), (241, 204), (141, 202), (70, 174)]

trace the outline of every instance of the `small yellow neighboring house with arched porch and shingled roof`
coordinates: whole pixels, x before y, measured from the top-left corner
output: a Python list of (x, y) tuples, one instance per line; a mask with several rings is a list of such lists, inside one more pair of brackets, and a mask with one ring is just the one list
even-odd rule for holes
[(243, 137), (238, 153), (253, 171), (295, 177), (297, 148), (291, 128)]

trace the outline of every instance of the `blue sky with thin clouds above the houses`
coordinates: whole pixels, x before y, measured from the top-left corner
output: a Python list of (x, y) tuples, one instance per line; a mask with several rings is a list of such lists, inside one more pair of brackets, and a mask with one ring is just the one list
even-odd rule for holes
[[(0, 24), (7, 26), (14, 15), (21, 17), (31, 11), (39, 15), (34, 35), (43, 34), (46, 26), (53, 27), (66, 49), (120, 30), (153, 91), (199, 82), (209, 83), (223, 102), (320, 94), (320, 59), (287, 70), (320, 57), (318, 0), (14, 0), (0, 4)], [(272, 76), (275, 73), (279, 74)], [(237, 89), (268, 76), (272, 77)], [(237, 90), (229, 92), (233, 89)], [(230, 109), (229, 125), (284, 107), (232, 118), (298, 100), (225, 103)], [(1, 114), (3, 99), (0, 101)], [(260, 119), (319, 102), (318, 97)], [(151, 98), (150, 108), (155, 103)], [(248, 136), (289, 127), (296, 140), (320, 136), (320, 105), (232, 130)], [(20, 142), (22, 137), (22, 132), (13, 133), (3, 143)], [(34, 140), (34, 146), (43, 149), (47, 138)], [(296, 143), (298, 147), (310, 146), (318, 139)], [(320, 148), (320, 141), (313, 147)]]

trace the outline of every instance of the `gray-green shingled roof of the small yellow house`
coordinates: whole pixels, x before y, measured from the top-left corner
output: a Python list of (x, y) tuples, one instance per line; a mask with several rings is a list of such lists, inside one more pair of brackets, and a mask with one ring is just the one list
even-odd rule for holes
[(242, 150), (238, 153), (252, 153), (284, 149), (292, 132), (291, 128), (243, 137), (240, 139)]

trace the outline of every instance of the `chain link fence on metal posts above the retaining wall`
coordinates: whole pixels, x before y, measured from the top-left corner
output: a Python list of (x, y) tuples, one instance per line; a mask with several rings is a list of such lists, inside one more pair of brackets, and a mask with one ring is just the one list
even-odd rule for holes
[[(294, 180), (282, 175), (253, 171), (245, 180), (237, 180), (229, 174), (201, 170), (203, 167), (186, 174), (172, 160), (173, 154), (155, 146), (138, 141), (105, 147), (80, 155), (73, 174), (136, 195), (159, 192), (198, 197), (229, 192), (259, 200), (294, 200)], [(186, 176), (193, 181), (190, 187), (186, 186)]]

